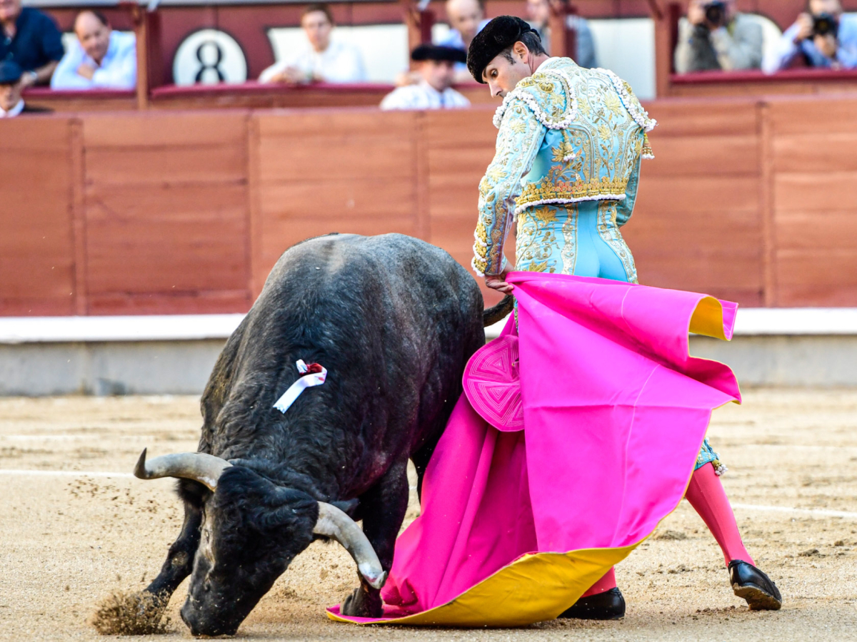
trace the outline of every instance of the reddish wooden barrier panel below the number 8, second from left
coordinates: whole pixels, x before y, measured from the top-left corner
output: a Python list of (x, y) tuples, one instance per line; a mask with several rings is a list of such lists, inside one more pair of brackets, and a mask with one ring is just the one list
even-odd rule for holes
[(91, 312), (246, 310), (246, 112), (83, 121)]

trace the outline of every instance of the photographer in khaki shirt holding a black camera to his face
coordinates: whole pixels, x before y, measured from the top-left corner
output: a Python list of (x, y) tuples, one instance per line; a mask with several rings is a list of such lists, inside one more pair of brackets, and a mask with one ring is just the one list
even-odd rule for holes
[(690, 0), (687, 21), (680, 25), (675, 48), (679, 74), (762, 66), (762, 27), (735, 11), (735, 0)]

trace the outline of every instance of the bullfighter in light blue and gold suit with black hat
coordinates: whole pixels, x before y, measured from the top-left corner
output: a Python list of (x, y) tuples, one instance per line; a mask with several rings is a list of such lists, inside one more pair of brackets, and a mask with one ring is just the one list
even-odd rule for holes
[[(632, 215), (642, 159), (654, 158), (647, 134), (656, 122), (631, 86), (611, 71), (548, 57), (537, 33), (512, 16), (494, 18), (476, 35), (467, 64), (503, 98), (494, 116), (496, 154), (479, 185), (473, 246), (473, 268), (488, 288), (512, 293), (504, 248), (516, 223), (515, 270), (636, 283), (620, 227)], [(706, 438), (686, 499), (720, 544), (735, 595), (751, 609), (779, 609), (780, 592), (741, 541), (719, 479), (724, 470)], [(560, 617), (624, 614), (611, 568)]]

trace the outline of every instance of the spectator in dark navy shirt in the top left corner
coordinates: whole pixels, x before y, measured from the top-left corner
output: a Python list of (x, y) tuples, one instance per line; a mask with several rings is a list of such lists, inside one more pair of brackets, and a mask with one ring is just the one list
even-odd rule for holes
[(0, 61), (17, 62), (24, 87), (47, 85), (63, 57), (63, 39), (54, 21), (21, 0), (0, 0)]

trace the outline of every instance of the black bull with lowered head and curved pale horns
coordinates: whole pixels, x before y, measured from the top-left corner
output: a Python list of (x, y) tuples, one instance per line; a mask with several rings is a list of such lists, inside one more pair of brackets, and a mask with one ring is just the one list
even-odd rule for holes
[[(510, 302), (483, 312), (467, 271), (407, 236), (291, 247), (214, 366), (199, 453), (138, 463), (139, 477), (182, 478), (184, 502), (182, 532), (145, 592), (165, 607), (191, 575), (191, 632), (233, 634), (298, 553), (332, 537), (358, 565), (345, 612), (381, 615), (408, 459), (422, 484), (483, 324)], [(327, 367), (327, 382), (280, 413), (298, 359)]]

